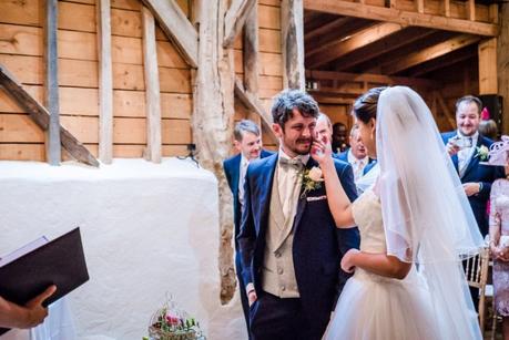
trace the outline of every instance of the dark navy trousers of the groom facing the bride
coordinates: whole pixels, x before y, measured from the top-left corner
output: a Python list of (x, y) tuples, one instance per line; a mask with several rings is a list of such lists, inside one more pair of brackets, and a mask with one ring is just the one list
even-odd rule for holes
[(281, 299), (257, 292), (251, 306), (251, 339), (253, 340), (320, 340), (325, 322), (307, 320), (299, 298)]

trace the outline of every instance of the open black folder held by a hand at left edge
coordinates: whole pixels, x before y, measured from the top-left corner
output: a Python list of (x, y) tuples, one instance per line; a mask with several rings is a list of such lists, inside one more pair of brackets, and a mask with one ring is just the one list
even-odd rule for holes
[[(55, 285), (57, 291), (44, 301), (45, 307), (88, 280), (80, 228), (75, 228), (0, 267), (0, 296), (24, 305)], [(0, 328), (0, 334), (8, 330)]]

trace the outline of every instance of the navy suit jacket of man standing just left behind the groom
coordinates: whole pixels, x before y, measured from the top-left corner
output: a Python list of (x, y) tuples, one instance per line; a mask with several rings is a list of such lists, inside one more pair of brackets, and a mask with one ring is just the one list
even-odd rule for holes
[[(273, 153), (266, 150), (262, 150), (259, 157), (265, 158), (271, 156)], [(241, 200), (238, 199), (238, 177), (241, 176), (241, 159), (242, 155), (237, 154), (232, 156), (223, 162), (224, 174), (226, 175), (226, 181), (228, 182), (230, 189), (232, 190), (233, 195), (233, 223), (235, 226), (235, 235), (236, 238), (238, 236), (238, 231), (241, 229)], [(237, 248), (237, 241), (235, 239), (235, 250)]]

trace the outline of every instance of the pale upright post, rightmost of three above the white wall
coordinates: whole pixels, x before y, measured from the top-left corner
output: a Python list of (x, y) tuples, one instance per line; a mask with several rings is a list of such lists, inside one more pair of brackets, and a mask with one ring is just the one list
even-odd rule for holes
[(161, 163), (161, 100), (159, 89), (157, 51), (155, 48), (154, 16), (142, 8), (143, 63), (146, 102), (146, 153), (147, 159)]

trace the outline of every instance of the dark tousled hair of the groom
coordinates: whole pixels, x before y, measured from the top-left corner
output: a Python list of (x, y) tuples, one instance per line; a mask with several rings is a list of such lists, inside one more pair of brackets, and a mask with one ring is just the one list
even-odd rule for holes
[(306, 92), (301, 90), (284, 90), (276, 97), (272, 105), (272, 117), (274, 123), (284, 127), (285, 123), (293, 117), (294, 109), (305, 117), (318, 117), (318, 103)]

